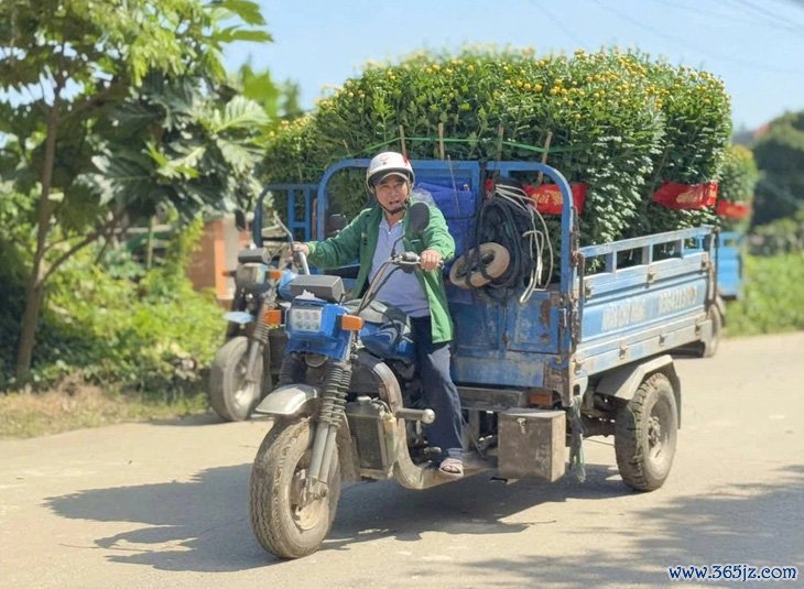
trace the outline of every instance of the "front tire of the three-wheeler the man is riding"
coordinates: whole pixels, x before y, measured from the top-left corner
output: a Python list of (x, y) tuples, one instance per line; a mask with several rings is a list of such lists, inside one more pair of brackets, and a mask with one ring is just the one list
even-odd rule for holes
[(333, 525), (340, 497), (337, 448), (328, 492), (301, 510), (295, 501), (313, 449), (309, 421), (278, 421), (257, 451), (249, 483), (251, 530), (268, 552), (301, 558), (316, 552)]

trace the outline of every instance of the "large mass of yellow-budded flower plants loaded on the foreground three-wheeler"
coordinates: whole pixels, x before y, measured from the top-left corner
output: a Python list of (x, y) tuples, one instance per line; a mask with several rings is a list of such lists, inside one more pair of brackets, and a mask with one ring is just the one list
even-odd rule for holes
[[(650, 203), (665, 179), (717, 178), (730, 134), (729, 99), (704, 72), (617, 50), (535, 58), (530, 51), (416, 54), (371, 65), (298, 124), (280, 130), (265, 160), (272, 182), (316, 181), (327, 165), (383, 149), (412, 159), (546, 161), (587, 184), (582, 244), (714, 222), (711, 211)], [(523, 178), (529, 179), (529, 178)], [(336, 206), (365, 204), (358, 175)], [(557, 223), (551, 221), (557, 238)]]

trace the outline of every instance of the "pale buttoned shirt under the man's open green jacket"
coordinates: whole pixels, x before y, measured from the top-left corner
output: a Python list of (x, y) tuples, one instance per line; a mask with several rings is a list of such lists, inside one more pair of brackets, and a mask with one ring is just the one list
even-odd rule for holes
[[(382, 217), (377, 234), (377, 249), (371, 260), (369, 281), (374, 280), (380, 266), (391, 258), (392, 253), (401, 253), (404, 250), (403, 234), (404, 221), (399, 221), (393, 227), (389, 227), (388, 219), (384, 216)], [(390, 265), (385, 270), (384, 277), (380, 279), (388, 279), (388, 281), (377, 293), (377, 299), (387, 305), (399, 307), (409, 317), (426, 317), (430, 315), (427, 297), (416, 275), (413, 272), (408, 274), (401, 269), (394, 270), (395, 268)], [(393, 274), (388, 277), (391, 271), (393, 271)]]

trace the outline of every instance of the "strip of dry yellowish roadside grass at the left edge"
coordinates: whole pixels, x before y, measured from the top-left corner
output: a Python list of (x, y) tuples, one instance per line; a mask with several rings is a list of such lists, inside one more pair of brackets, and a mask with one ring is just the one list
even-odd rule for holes
[(0, 395), (0, 439), (31, 438), (126, 422), (170, 419), (208, 412), (204, 394), (172, 402), (109, 394), (67, 381), (46, 392)]

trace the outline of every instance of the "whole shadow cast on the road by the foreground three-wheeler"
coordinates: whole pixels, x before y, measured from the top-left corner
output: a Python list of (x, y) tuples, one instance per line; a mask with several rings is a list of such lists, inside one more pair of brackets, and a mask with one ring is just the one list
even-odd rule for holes
[[(91, 489), (48, 498), (63, 517), (120, 522), (121, 532), (95, 541), (111, 550), (111, 561), (164, 570), (246, 570), (281, 561), (257, 544), (249, 524), (251, 465), (202, 471), (189, 482)], [(334, 528), (322, 548), (341, 550), (356, 543), (394, 536), (415, 541), (425, 532), (513, 534), (555, 521), (510, 524), (501, 520), (550, 501), (606, 499), (628, 493), (619, 481), (605, 481), (608, 467), (588, 466), (582, 486), (574, 477), (555, 484), (491, 482), (478, 475), (425, 491), (394, 482), (355, 484), (340, 497)]]

